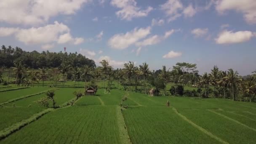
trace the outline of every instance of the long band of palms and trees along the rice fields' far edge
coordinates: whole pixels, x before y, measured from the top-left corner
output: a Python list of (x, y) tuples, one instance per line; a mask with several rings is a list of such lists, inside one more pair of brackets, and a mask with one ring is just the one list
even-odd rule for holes
[[(221, 71), (217, 66), (214, 66), (210, 73), (199, 75), (196, 64), (185, 62), (176, 63), (171, 68), (163, 66), (162, 69), (156, 71), (150, 71), (146, 62), (137, 67), (129, 61), (124, 64), (123, 68), (117, 69), (110, 66), (106, 60), (102, 60), (100, 64), (99, 67), (91, 64), (72, 65), (68, 57), (65, 57), (59, 67), (28, 69), (29, 67), (23, 61), (19, 61), (13, 62), (13, 67), (10, 69), (15, 75), (16, 85), (29, 86), (39, 81), (42, 81), (44, 85), (45, 80), (57, 83), (61, 79), (64, 87), (65, 81), (68, 79), (75, 81), (75, 84), (77, 81), (84, 81), (85, 87), (97, 87), (96, 83), (103, 80), (103, 88), (109, 92), (112, 89), (112, 82), (115, 80), (117, 88), (119, 85), (123, 85), (126, 91), (143, 91), (145, 94), (148, 93), (149, 88), (155, 88), (157, 91), (162, 91), (165, 96), (221, 97), (240, 101), (254, 101), (256, 96), (256, 72), (243, 79), (237, 71), (233, 69)], [(4, 66), (0, 70), (0, 80), (3, 69), (5, 69)], [(9, 83), (10, 69), (7, 84)], [(167, 85), (170, 83), (172, 86), (167, 90)], [(186, 86), (196, 87), (197, 90), (184, 91)]]

